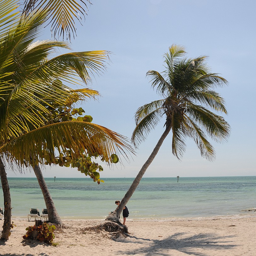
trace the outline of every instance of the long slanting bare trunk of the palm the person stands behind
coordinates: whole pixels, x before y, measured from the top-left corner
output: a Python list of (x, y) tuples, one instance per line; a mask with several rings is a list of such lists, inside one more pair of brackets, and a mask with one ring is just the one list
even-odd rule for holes
[(136, 176), (136, 178), (134, 179), (133, 183), (131, 184), (131, 187), (128, 189), (128, 191), (126, 192), (124, 198), (122, 199), (122, 201), (120, 202), (119, 206), (115, 209), (115, 211), (106, 218), (106, 220), (112, 220), (112, 221), (118, 221), (118, 216), (120, 216), (122, 209), (125, 207), (125, 205), (127, 204), (127, 202), (130, 200), (132, 194), (134, 193), (135, 189), (137, 188), (137, 186), (139, 185), (144, 173), (146, 172), (146, 170), (148, 169), (148, 166), (152, 163), (152, 161), (154, 160), (156, 154), (158, 153), (161, 145), (164, 142), (164, 139), (166, 138), (166, 136), (168, 135), (168, 133), (171, 131), (171, 125), (169, 127), (166, 127), (164, 133), (162, 134), (162, 136), (160, 137), (158, 143), (156, 144), (153, 152), (151, 153), (151, 155), (149, 156), (148, 160), (145, 162), (145, 164), (142, 166), (142, 168), (140, 169), (138, 175)]

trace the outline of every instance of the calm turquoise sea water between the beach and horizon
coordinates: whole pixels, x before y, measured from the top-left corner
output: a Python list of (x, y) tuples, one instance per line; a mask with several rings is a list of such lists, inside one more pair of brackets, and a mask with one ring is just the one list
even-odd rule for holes
[[(104, 179), (104, 178), (103, 178)], [(103, 219), (115, 209), (133, 178), (45, 178), (63, 219)], [(13, 218), (26, 218), (30, 208), (45, 208), (36, 178), (8, 178)], [(2, 190), (1, 190), (2, 191)], [(3, 207), (3, 193), (0, 193)], [(143, 178), (127, 207), (129, 219), (256, 216), (256, 176)]]

